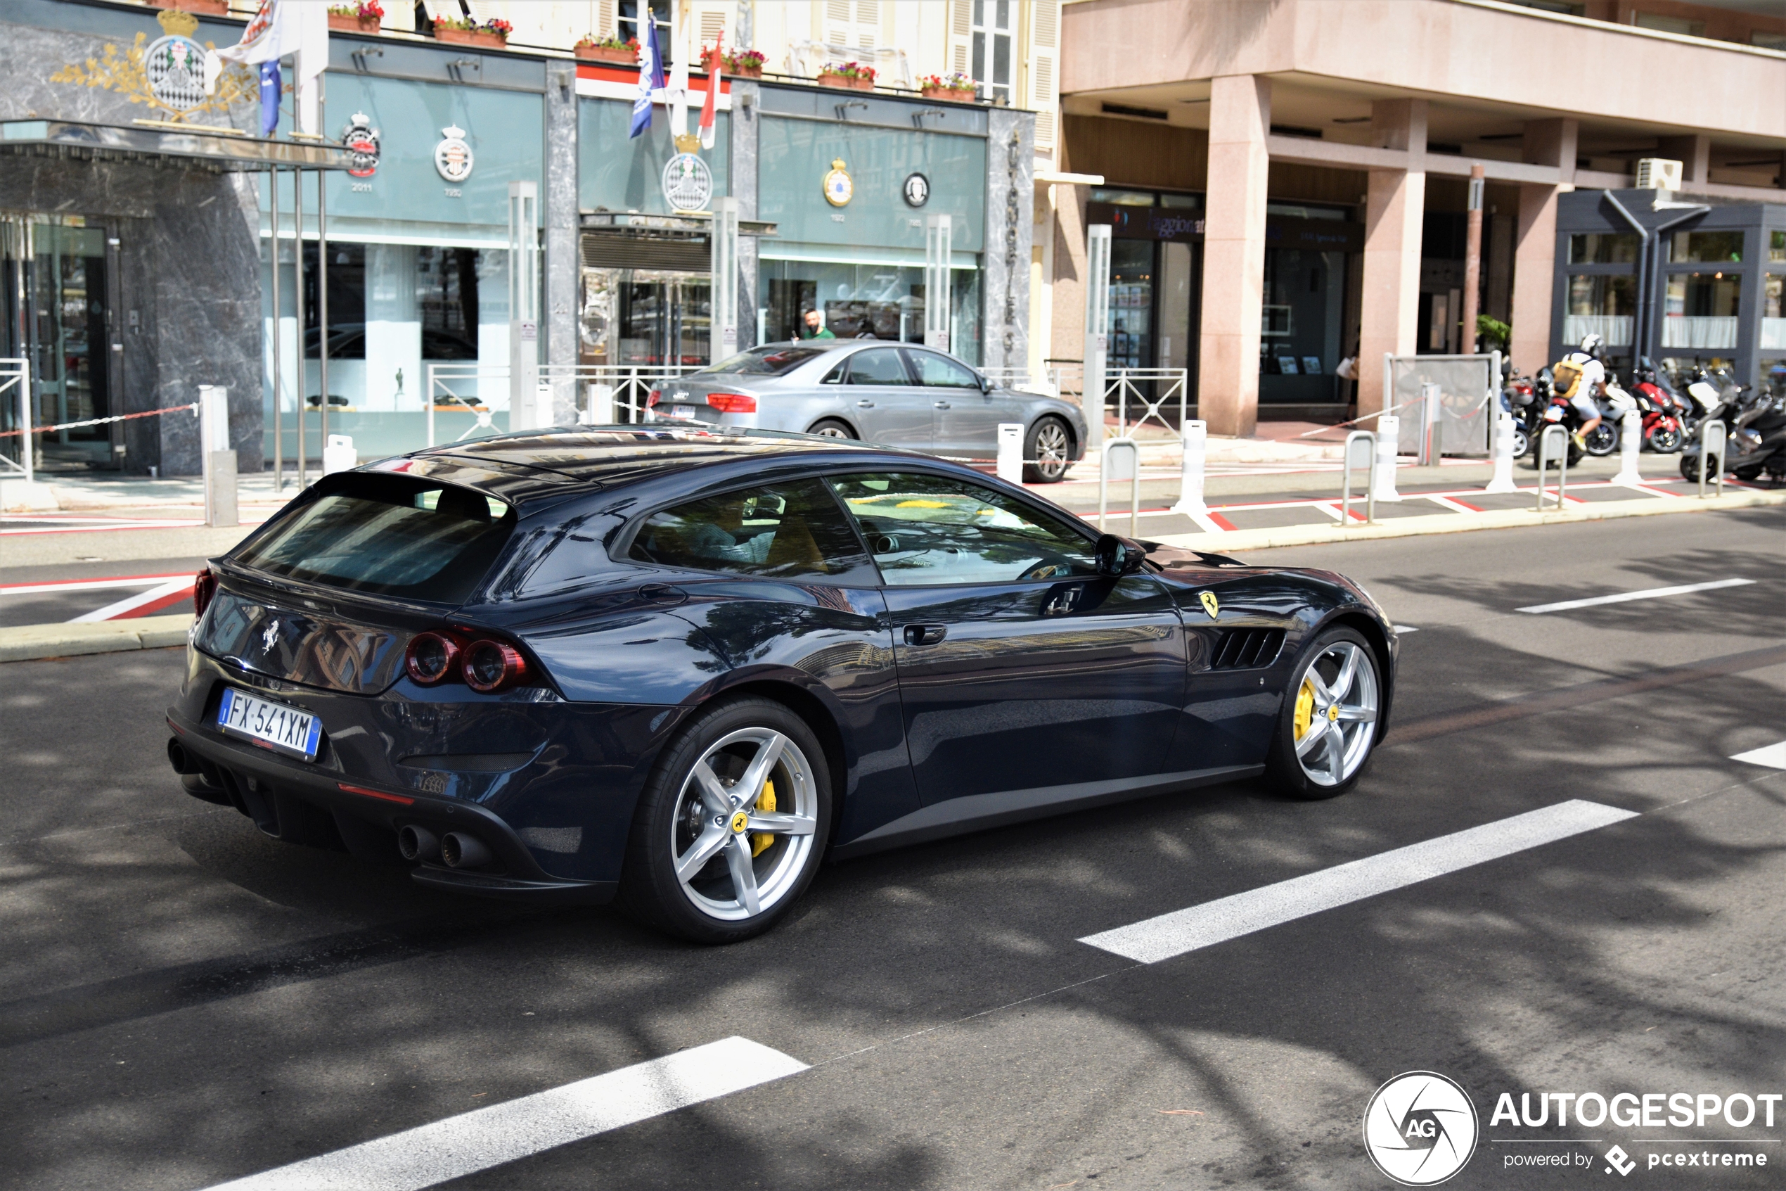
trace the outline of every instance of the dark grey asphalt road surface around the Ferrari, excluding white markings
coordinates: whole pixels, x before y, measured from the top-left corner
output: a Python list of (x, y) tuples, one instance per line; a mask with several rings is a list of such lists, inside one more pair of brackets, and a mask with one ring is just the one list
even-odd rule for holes
[[(1354, 793), (1236, 784), (836, 864), (723, 950), (429, 893), (188, 798), (177, 650), (0, 666), (0, 1187), (209, 1187), (732, 1036), (811, 1066), (443, 1186), (1388, 1187), (1359, 1121), (1409, 1070), (1481, 1112), (1448, 1186), (1606, 1180), (1609, 1145), (1686, 1139), (1772, 1164), (1632, 1180), (1781, 1186), (1786, 1112), (1490, 1123), (1500, 1091), (1786, 1091), (1786, 771), (1731, 759), (1786, 737), (1781, 530), (1261, 552), (1416, 629)], [(1515, 611), (1716, 579), (1756, 582)], [(1077, 941), (1566, 800), (1641, 814), (1154, 964)], [(1534, 1152), (1593, 1161), (1507, 1168)]]

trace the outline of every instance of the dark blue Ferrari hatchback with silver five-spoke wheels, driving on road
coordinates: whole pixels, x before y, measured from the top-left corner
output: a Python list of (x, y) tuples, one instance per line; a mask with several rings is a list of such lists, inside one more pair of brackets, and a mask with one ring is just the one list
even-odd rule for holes
[(566, 429), (329, 475), (200, 575), (168, 755), (414, 879), (768, 929), (822, 857), (1357, 782), (1397, 639), (1329, 571), (1098, 536), (927, 455)]

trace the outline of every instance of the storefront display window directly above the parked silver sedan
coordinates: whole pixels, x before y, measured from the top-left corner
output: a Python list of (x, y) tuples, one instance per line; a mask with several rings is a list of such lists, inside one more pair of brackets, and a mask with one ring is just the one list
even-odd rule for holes
[[(838, 339), (923, 343), (923, 270), (900, 264), (763, 261), (763, 341), (811, 339), (807, 312)], [(950, 270), (952, 354), (979, 364), (979, 270)]]

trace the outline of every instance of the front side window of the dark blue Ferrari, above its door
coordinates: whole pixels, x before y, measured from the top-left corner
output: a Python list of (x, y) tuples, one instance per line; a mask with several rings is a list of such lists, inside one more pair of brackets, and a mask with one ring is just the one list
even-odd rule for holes
[(979, 484), (839, 475), (830, 486), (895, 587), (1095, 575), (1091, 539)]

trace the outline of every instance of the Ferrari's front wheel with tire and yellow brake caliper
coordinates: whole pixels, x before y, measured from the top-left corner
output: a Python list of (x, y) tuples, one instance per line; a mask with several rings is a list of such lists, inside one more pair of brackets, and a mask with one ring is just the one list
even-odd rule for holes
[(1266, 777), (1295, 798), (1343, 795), (1357, 784), (1377, 745), (1377, 655), (1357, 632), (1332, 629), (1309, 646), (1291, 691)]

